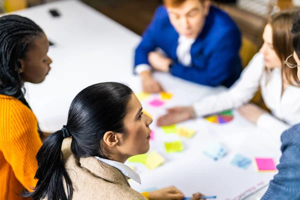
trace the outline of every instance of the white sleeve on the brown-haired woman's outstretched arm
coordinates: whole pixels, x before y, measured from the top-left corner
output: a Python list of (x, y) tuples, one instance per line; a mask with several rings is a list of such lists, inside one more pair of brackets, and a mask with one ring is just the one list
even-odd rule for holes
[(263, 55), (258, 52), (245, 67), (239, 79), (227, 91), (204, 97), (193, 104), (196, 115), (200, 117), (239, 107), (248, 102), (258, 89), (263, 70)]

